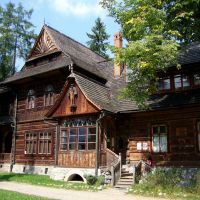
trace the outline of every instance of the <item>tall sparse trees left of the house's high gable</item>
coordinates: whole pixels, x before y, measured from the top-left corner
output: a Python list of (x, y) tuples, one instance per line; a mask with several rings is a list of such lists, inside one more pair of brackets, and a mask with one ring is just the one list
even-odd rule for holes
[(16, 71), (16, 59), (26, 59), (36, 35), (29, 21), (33, 10), (21, 4), (0, 6), (0, 79)]

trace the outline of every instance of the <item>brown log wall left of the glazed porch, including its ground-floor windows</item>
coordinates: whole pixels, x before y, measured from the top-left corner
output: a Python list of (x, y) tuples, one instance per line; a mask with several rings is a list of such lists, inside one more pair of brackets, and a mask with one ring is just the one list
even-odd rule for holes
[[(50, 79), (50, 78), (49, 78)], [(64, 78), (50, 79), (20, 85), (17, 90), (16, 163), (55, 165), (56, 122), (44, 120), (52, 105), (45, 105), (45, 88), (53, 87), (53, 103), (64, 85)], [(40, 83), (39, 83), (40, 82)], [(28, 92), (34, 90), (34, 108), (28, 108)]]

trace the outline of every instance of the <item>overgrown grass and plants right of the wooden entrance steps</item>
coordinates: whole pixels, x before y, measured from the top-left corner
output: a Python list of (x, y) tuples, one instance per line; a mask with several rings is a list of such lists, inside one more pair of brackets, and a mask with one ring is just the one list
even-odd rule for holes
[(128, 193), (173, 200), (200, 200), (200, 173), (192, 177), (190, 185), (180, 185), (181, 180), (180, 170), (157, 169), (141, 183), (132, 185)]

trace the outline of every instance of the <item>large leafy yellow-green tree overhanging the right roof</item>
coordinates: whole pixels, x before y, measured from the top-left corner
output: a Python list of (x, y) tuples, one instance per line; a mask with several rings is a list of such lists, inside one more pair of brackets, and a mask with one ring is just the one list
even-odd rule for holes
[(132, 69), (122, 96), (146, 108), (158, 73), (176, 65), (182, 44), (200, 39), (194, 30), (200, 23), (199, 0), (102, 0), (101, 4), (121, 25), (128, 42), (123, 49), (113, 49), (115, 62)]

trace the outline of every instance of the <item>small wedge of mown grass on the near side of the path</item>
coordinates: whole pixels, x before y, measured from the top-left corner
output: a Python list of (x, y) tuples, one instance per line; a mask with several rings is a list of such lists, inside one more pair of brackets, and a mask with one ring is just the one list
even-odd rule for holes
[(12, 199), (14, 200), (47, 200), (48, 198), (0, 189), (0, 199), (1, 200), (12, 200)]

